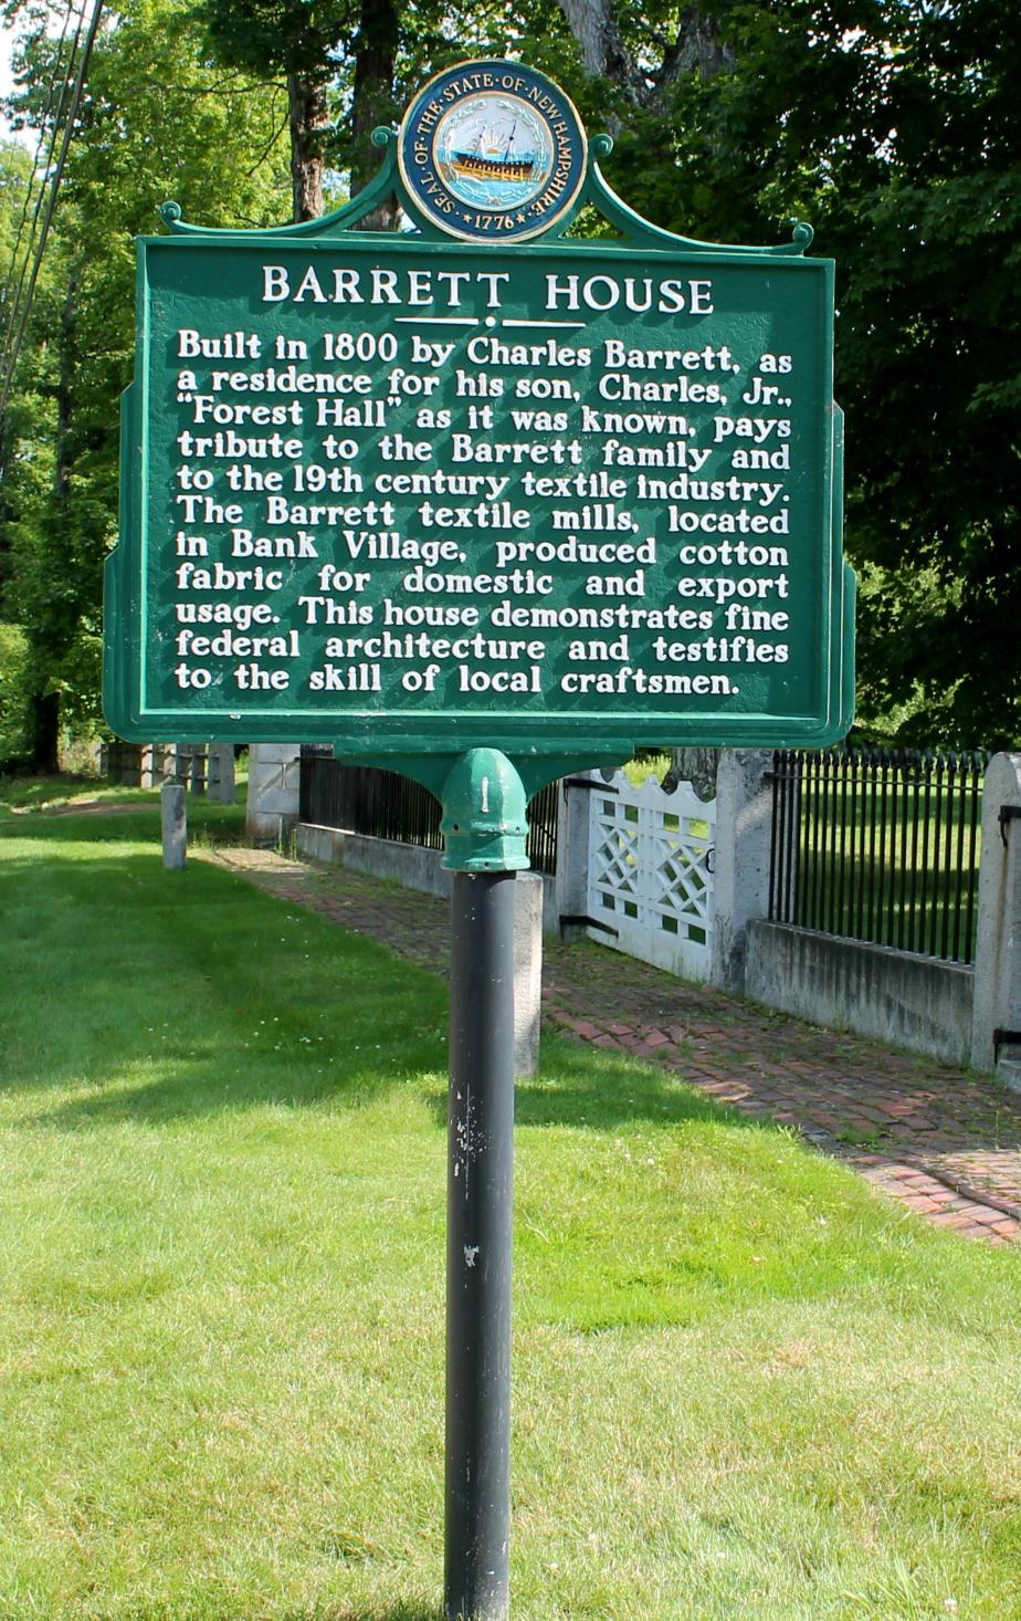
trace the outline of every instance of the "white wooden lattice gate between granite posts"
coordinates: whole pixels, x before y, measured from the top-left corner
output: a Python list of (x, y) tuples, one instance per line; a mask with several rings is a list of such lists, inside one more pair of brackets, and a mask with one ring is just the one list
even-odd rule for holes
[(673, 794), (622, 772), (590, 796), (588, 916), (606, 945), (703, 979), (713, 935), (716, 804), (690, 783)]

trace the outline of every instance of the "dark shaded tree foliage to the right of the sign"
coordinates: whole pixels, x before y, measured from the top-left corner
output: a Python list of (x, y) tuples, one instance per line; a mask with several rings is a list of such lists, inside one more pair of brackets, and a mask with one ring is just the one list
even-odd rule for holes
[[(1006, 0), (715, 0), (731, 65), (617, 96), (614, 185), (658, 224), (838, 263), (862, 720), (1021, 738), (1021, 91)], [(640, 26), (640, 24), (637, 24)]]

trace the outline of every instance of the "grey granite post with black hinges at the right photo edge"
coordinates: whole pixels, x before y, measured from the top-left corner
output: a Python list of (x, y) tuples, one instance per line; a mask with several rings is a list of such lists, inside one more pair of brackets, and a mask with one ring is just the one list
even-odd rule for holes
[[(1002, 1037), (998, 1063), (997, 1029), (1016, 1037)], [(985, 770), (971, 1062), (1021, 1091), (1021, 754)]]

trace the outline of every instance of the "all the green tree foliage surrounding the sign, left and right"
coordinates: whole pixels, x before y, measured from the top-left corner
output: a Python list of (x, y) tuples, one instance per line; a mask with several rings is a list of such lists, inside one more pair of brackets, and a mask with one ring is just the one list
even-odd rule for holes
[[(16, 107), (44, 123), (45, 6), (8, 13), (28, 31)], [(619, 36), (604, 76), (587, 73), (562, 11), (532, 0), (126, 0), (110, 13), (0, 438), (0, 611), (28, 635), (36, 695), (96, 713), (131, 237), (169, 195), (204, 224), (290, 216), (288, 75), (329, 89), (323, 151), (355, 169), (374, 162), (368, 113), (395, 117), (451, 62), (510, 53), (614, 133), (608, 177), (655, 222), (720, 242), (814, 224), (838, 263), (862, 725), (904, 741), (1021, 739), (1013, 5), (593, 0), (596, 13)], [(26, 180), (24, 152), (0, 151), (0, 246)]]

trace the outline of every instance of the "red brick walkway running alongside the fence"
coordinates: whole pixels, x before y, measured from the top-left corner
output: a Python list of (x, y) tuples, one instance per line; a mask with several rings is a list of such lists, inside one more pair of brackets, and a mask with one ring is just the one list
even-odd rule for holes
[[(423, 968), (447, 969), (444, 901), (272, 851), (203, 856)], [(990, 1243), (1021, 1234), (1021, 1096), (990, 1076), (802, 1024), (590, 943), (546, 942), (543, 1018), (796, 1127), (942, 1227)]]

